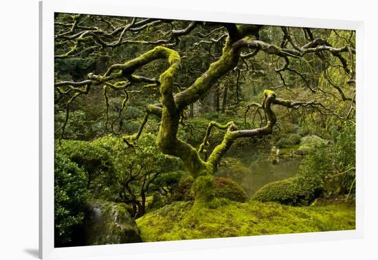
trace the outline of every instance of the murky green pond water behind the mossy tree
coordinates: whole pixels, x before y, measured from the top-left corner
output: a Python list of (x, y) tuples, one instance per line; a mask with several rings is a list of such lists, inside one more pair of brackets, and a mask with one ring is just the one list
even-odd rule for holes
[(232, 180), (240, 184), (250, 198), (259, 188), (269, 182), (284, 180), (288, 177), (296, 175), (300, 160), (280, 160), (277, 164), (271, 164), (267, 160), (268, 156), (253, 157), (254, 160), (245, 162), (243, 166), (245, 170), (242, 173), (217, 173), (222, 177), (230, 177)]

